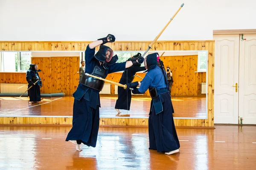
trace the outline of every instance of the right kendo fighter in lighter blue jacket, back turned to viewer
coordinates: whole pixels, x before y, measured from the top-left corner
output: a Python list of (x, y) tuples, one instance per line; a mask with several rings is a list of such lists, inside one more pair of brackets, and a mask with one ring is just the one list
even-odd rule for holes
[(147, 69), (144, 79), (127, 84), (126, 89), (134, 88), (134, 94), (144, 94), (149, 89), (152, 99), (148, 118), (149, 149), (167, 155), (177, 153), (180, 143), (172, 116), (174, 110), (163, 62), (158, 53), (153, 53), (145, 58), (144, 64)]

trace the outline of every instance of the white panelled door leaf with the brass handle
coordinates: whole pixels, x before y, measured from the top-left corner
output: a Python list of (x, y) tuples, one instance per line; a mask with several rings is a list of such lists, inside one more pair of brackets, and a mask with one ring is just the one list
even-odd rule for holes
[(239, 34), (214, 35), (214, 123), (238, 124)]

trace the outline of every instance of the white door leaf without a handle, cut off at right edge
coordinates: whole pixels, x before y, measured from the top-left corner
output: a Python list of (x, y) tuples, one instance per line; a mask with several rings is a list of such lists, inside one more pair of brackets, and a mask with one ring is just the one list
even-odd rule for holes
[(256, 124), (256, 34), (244, 34), (239, 56), (239, 116)]

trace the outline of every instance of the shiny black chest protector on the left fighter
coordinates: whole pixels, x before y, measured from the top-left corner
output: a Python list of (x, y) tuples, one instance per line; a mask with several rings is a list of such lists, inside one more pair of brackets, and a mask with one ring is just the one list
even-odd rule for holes
[[(106, 70), (101, 69), (98, 66), (95, 66), (93, 68), (93, 72), (91, 73), (91, 75), (105, 79), (106, 78)], [(81, 83), (82, 85), (85, 85), (89, 88), (93, 88), (97, 91), (102, 91), (105, 81), (82, 74), (79, 83)]]

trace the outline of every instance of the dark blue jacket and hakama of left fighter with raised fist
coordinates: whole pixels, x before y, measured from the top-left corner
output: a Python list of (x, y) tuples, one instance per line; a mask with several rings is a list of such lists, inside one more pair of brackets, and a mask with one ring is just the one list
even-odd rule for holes
[[(85, 73), (90, 74), (95, 66), (104, 69), (94, 55), (95, 48), (90, 49), (88, 45), (85, 50)], [(105, 77), (110, 73), (124, 71), (125, 65), (126, 62), (122, 62), (108, 66)], [(96, 147), (99, 131), (99, 91), (79, 84), (73, 97), (73, 127), (66, 141), (76, 140), (77, 144)]]

